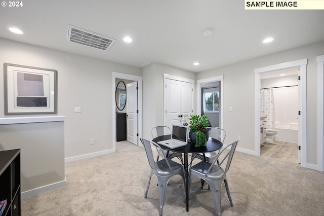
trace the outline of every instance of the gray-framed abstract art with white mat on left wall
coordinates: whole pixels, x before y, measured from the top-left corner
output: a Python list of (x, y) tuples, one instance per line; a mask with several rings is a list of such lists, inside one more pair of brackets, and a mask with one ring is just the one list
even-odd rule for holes
[(4, 63), (5, 115), (56, 114), (57, 70)]

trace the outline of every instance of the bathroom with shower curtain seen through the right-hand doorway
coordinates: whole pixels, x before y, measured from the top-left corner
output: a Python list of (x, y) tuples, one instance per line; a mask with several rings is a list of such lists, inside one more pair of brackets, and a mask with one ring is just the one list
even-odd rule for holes
[(298, 67), (260, 74), (260, 118), (266, 138), (260, 154), (290, 163), (298, 157)]

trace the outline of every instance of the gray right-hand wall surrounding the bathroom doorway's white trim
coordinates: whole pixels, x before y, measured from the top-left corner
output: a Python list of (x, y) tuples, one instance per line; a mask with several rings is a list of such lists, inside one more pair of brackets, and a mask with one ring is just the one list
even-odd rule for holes
[[(299, 59), (308, 59), (307, 65), (307, 163), (317, 164), (317, 64), (316, 56), (324, 54), (324, 42), (282, 51), (279, 53), (233, 63), (197, 74), (196, 79), (224, 75), (223, 128), (226, 140), (241, 136), (237, 148), (254, 152), (255, 149), (255, 81), (254, 69)], [(229, 112), (228, 107), (233, 111)], [(226, 141), (225, 141), (226, 142)]]

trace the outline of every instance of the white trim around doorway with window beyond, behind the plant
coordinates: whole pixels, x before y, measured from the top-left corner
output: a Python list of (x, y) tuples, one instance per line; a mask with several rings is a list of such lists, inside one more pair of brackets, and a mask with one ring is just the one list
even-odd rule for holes
[(223, 79), (224, 76), (217, 76), (217, 77), (211, 77), (211, 78), (206, 78), (206, 79), (201, 79), (197, 80), (197, 114), (201, 113), (201, 84), (205, 83), (212, 83), (212, 82), (220, 82), (220, 115), (219, 118), (221, 119), (220, 121), (220, 128), (223, 128)]

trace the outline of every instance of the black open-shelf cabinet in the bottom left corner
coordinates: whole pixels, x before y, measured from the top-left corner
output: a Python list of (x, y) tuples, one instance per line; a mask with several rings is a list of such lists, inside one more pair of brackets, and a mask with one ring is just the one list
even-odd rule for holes
[(0, 216), (21, 215), (20, 204), (20, 149), (0, 152)]

